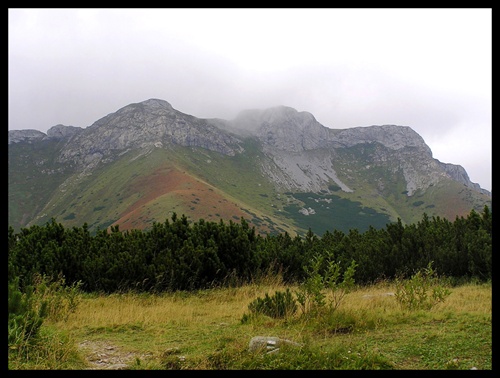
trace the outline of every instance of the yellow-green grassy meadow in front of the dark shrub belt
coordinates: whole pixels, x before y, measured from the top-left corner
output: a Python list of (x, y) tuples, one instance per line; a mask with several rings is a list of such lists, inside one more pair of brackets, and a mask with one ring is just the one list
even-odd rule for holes
[[(9, 369), (492, 369), (491, 283), (450, 287), (429, 310), (403, 308), (394, 284), (379, 282), (317, 316), (251, 314), (256, 298), (286, 288), (297, 289), (267, 277), (189, 293), (79, 293), (74, 311), (44, 321), (35, 345), (9, 351)], [(250, 352), (254, 336), (301, 346)]]

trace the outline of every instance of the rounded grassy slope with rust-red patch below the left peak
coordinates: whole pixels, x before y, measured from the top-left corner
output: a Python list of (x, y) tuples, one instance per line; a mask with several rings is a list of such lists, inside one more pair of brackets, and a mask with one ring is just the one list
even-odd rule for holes
[[(262, 231), (293, 232), (263, 211), (269, 183), (256, 177), (250, 160), (238, 165), (234, 159), (197, 148), (131, 151), (88, 176), (70, 177), (33, 223), (54, 217), (68, 227), (87, 223), (91, 230), (115, 224), (147, 229), (176, 212), (193, 220), (236, 222), (244, 217)], [(245, 180), (261, 186), (244, 185)], [(257, 192), (263, 196), (249, 201)]]

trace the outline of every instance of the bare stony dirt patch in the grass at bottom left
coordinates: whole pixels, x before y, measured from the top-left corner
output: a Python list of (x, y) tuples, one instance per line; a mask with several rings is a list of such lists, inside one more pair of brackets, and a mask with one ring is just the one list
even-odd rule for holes
[(127, 352), (107, 341), (85, 340), (78, 344), (90, 367), (88, 370), (126, 370), (137, 358), (150, 357), (145, 354)]

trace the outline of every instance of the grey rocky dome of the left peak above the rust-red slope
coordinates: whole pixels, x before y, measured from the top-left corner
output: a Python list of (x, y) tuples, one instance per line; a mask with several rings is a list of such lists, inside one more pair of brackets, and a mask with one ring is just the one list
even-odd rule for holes
[(75, 135), (62, 150), (60, 161), (95, 165), (112, 159), (115, 153), (175, 144), (234, 155), (242, 150), (239, 143), (207, 120), (178, 112), (166, 101), (150, 99), (125, 106)]

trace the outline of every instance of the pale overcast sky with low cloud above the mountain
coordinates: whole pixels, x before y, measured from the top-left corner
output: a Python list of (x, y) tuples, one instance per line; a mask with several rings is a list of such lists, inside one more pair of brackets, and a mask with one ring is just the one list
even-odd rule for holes
[(334, 129), (409, 126), (491, 190), (491, 8), (10, 8), (8, 23), (9, 130), (149, 98), (199, 118), (285, 105)]

